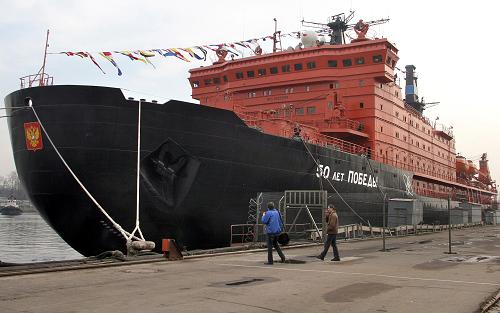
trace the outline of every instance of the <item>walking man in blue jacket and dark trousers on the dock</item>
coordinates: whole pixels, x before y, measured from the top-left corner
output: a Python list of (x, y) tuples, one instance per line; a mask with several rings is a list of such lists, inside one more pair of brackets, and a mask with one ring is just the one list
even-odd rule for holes
[(281, 220), (281, 214), (274, 207), (273, 202), (267, 204), (267, 212), (262, 215), (262, 223), (266, 225), (267, 234), (267, 263), (268, 265), (273, 264), (273, 247), (278, 252), (281, 258), (281, 263), (285, 262), (285, 255), (281, 252), (281, 248), (278, 244), (278, 236), (281, 233), (281, 225), (283, 222)]

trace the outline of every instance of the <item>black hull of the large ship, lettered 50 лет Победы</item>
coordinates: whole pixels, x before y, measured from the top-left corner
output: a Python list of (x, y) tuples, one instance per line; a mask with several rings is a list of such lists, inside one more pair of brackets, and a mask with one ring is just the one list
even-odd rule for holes
[[(47, 135), (106, 213), (131, 231), (138, 101), (114, 88), (47, 86), (14, 92), (5, 103), (17, 172), (43, 218), (83, 255), (124, 250), (123, 236), (71, 176)], [(246, 223), (249, 199), (259, 192), (322, 186), (333, 195), (342, 224), (359, 222), (319, 176), (371, 225), (382, 223), (380, 189), (388, 198), (410, 196), (410, 172), (264, 134), (231, 111), (180, 101), (141, 107), (139, 220), (157, 247), (162, 238), (176, 238), (188, 249), (227, 246), (230, 226)], [(37, 122), (33, 111), (46, 129), (36, 151), (27, 149), (24, 128)], [(319, 173), (314, 159), (328, 172)]]

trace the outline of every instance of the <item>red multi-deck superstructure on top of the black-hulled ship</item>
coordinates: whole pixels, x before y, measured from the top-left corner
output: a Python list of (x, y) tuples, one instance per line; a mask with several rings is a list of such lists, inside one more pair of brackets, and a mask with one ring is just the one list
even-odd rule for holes
[(362, 21), (355, 29), (358, 39), (349, 44), (318, 41), (234, 60), (226, 60), (222, 48), (212, 66), (190, 71), (192, 96), (265, 133), (300, 135), (411, 171), (420, 195), (483, 204), (496, 199), (486, 156), (477, 171), (457, 157), (452, 129), (423, 116), (415, 67), (406, 66), (405, 97), (395, 74), (398, 49), (387, 39), (365, 38)]

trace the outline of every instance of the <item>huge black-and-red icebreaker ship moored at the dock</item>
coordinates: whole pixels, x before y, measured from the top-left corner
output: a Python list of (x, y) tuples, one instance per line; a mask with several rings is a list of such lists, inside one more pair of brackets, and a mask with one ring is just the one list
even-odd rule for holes
[[(418, 201), (421, 222), (447, 223), (446, 204), (494, 209), (487, 155), (458, 156), (450, 127), (425, 117), (416, 67), (338, 14), (330, 41), (232, 58), (189, 72), (198, 103), (126, 98), (118, 88), (54, 85), (44, 71), (5, 98), (20, 181), (47, 223), (82, 255), (127, 242), (176, 239), (186, 249), (230, 244), (249, 199), (326, 190), (342, 224), (386, 225), (382, 203)], [(307, 26), (307, 25), (306, 25)], [(357, 38), (346, 41), (345, 31)], [(133, 231), (132, 231), (133, 230)]]

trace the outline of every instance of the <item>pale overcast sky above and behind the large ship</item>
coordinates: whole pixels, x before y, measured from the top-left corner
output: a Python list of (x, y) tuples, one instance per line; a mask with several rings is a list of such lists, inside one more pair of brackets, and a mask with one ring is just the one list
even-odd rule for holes
[[(496, 1), (52, 1), (0, 0), (0, 95), (19, 88), (19, 77), (35, 74), (49, 51), (114, 51), (190, 47), (263, 37), (303, 29), (300, 21), (326, 22), (336, 13), (390, 18), (371, 34), (399, 49), (398, 67), (414, 64), (419, 95), (441, 104), (426, 111), (452, 125), (457, 152), (477, 157), (488, 152), (500, 179), (498, 144), (498, 12)], [(123, 75), (102, 58), (103, 75), (89, 61), (49, 55), (47, 72), (56, 84), (102, 85), (143, 92), (146, 99), (190, 101), (189, 68), (175, 58), (155, 57), (156, 69), (117, 57)], [(208, 65), (205, 64), (205, 65)], [(0, 105), (0, 107), (3, 107)], [(0, 116), (4, 111), (0, 110)], [(14, 170), (5, 118), (0, 118), (0, 175)]]

